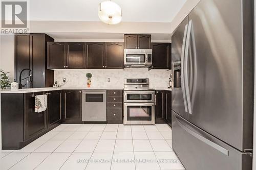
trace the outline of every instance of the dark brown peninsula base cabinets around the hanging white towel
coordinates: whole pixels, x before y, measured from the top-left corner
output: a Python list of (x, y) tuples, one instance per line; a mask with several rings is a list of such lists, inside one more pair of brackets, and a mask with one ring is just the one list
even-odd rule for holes
[[(47, 110), (35, 112), (34, 96), (44, 93), (48, 93)], [(60, 125), (60, 91), (1, 93), (1, 118), (2, 149), (22, 149)]]

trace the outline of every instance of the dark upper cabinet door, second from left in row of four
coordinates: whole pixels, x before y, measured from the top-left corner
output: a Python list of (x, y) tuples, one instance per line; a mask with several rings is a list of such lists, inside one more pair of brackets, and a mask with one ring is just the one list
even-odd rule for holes
[(85, 67), (84, 42), (67, 43), (67, 68), (82, 69)]

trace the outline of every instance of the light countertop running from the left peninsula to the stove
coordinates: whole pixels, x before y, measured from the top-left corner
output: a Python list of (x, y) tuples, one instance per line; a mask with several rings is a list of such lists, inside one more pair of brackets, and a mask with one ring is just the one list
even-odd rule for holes
[(26, 88), (18, 90), (0, 90), (0, 93), (31, 93), (39, 91), (54, 90), (122, 90), (123, 87), (45, 87), (45, 88)]

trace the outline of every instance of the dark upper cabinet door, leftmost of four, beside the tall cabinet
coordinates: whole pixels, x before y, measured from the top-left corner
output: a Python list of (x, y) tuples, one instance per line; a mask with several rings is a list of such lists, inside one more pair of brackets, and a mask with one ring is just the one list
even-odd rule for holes
[(66, 68), (66, 42), (47, 43), (47, 68)]

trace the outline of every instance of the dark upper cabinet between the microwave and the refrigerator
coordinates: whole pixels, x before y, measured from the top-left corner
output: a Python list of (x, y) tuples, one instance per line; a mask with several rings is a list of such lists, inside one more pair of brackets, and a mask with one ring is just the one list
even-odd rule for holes
[(171, 69), (171, 50), (171, 43), (152, 43), (152, 69)]

